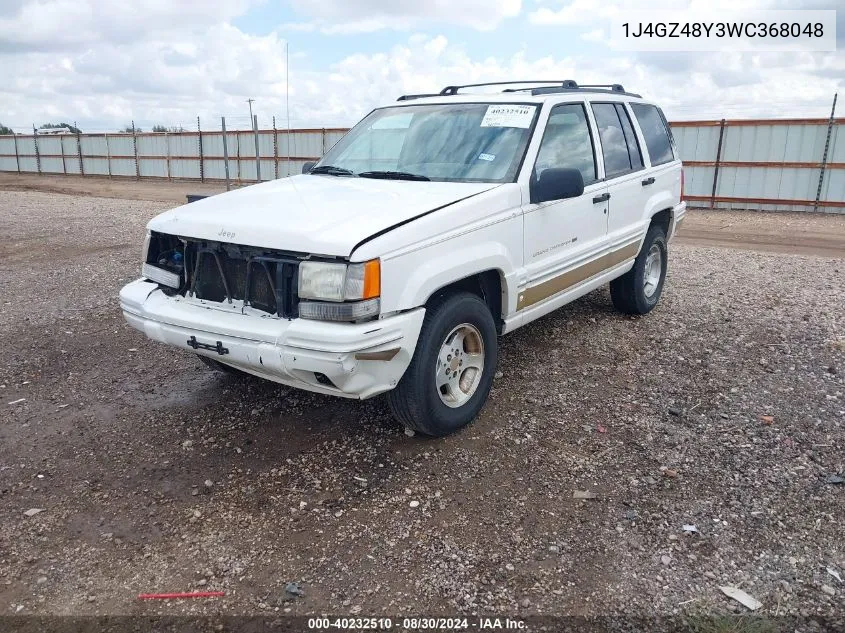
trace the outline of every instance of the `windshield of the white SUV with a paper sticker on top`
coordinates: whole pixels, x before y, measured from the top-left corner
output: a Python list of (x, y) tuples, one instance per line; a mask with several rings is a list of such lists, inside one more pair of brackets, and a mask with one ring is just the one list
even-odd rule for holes
[(455, 103), (371, 112), (312, 170), (447, 182), (513, 182), (538, 106)]

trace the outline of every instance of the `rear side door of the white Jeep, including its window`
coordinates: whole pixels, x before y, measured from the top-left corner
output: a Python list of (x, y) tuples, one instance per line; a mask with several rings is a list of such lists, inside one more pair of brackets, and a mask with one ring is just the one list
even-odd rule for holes
[(643, 153), (622, 102), (592, 102), (608, 186), (607, 237), (611, 248), (639, 239), (648, 198)]

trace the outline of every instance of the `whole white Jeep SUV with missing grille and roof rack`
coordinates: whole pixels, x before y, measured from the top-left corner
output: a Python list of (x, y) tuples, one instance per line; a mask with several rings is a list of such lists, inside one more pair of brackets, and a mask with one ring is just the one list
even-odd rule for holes
[(154, 218), (123, 314), (219, 369), (389, 392), (429, 435), (478, 414), (498, 335), (608, 282), (649, 312), (686, 210), (663, 113), (619, 85), (406, 95), (304, 171)]

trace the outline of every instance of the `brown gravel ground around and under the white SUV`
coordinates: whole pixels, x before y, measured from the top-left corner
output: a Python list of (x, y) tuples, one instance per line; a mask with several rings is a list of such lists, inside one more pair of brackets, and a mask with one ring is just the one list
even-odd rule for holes
[(0, 192), (0, 613), (845, 614), (845, 259), (675, 243), (651, 315), (504, 337), (430, 440), (126, 326), (167, 206)]

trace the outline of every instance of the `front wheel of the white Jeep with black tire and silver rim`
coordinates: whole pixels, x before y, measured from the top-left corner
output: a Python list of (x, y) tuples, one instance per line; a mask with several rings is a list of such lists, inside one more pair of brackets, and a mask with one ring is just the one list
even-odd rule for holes
[(461, 292), (434, 299), (411, 364), (387, 394), (393, 417), (437, 437), (472, 422), (493, 384), (497, 344), (493, 316), (479, 297)]

